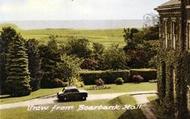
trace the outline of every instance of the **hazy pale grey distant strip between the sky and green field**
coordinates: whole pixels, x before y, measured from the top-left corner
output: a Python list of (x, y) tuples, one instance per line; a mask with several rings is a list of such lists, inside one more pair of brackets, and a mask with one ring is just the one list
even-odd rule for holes
[(68, 28), (68, 29), (118, 29), (141, 28), (143, 20), (64, 20), (64, 21), (10, 21), (22, 29)]

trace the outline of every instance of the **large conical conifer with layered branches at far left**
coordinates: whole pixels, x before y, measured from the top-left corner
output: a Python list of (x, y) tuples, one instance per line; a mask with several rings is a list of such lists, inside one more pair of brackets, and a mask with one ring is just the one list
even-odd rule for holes
[(8, 44), (6, 91), (11, 96), (25, 96), (31, 92), (28, 56), (24, 39), (16, 34)]

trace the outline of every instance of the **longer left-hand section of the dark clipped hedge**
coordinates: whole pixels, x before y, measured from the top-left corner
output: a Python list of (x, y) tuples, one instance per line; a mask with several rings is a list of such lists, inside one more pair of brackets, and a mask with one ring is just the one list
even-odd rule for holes
[(129, 82), (129, 70), (118, 71), (83, 71), (80, 77), (85, 85), (95, 84), (95, 80), (101, 78), (106, 84), (114, 84), (115, 79), (122, 77), (124, 82)]

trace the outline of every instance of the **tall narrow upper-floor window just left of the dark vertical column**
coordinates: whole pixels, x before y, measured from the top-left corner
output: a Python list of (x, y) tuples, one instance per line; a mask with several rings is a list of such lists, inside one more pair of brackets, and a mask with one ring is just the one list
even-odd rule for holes
[(177, 32), (176, 32), (176, 22), (172, 21), (172, 26), (171, 26), (171, 32), (172, 32), (172, 48), (176, 49), (176, 38), (177, 38)]

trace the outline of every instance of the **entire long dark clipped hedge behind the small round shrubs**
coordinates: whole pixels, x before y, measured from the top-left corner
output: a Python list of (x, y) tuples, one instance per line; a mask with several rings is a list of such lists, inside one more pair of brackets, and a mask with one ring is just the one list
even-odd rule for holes
[(95, 84), (95, 80), (101, 78), (106, 84), (113, 84), (118, 77), (123, 78), (124, 82), (133, 82), (133, 75), (141, 75), (144, 80), (156, 79), (157, 71), (155, 69), (131, 69), (118, 71), (81, 71), (80, 77), (85, 85)]

